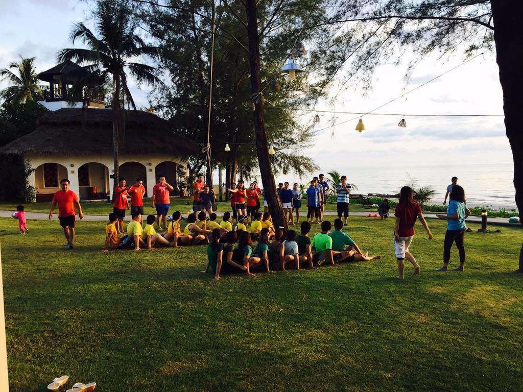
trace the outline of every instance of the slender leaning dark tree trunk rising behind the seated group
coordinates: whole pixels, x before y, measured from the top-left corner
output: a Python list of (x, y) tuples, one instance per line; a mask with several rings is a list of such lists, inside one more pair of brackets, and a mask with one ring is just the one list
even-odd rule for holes
[[(256, 17), (256, 0), (246, 0), (245, 10), (247, 12), (247, 34), (249, 38), (249, 64), (251, 65), (251, 93), (258, 94), (261, 91), (259, 70), (260, 53), (258, 37), (258, 21)], [(258, 153), (258, 166), (263, 183), (265, 199), (269, 204), (269, 211), (275, 227), (283, 227), (288, 230), (287, 220), (283, 214), (283, 207), (276, 192), (274, 174), (270, 166), (269, 148), (267, 146), (267, 134), (263, 117), (263, 103), (255, 103), (254, 107), (254, 130), (256, 135), (256, 151)]]

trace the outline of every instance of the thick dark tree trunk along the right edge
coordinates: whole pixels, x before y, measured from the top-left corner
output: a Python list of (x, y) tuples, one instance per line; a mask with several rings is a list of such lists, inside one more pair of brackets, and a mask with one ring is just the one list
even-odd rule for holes
[[(523, 30), (520, 18), (523, 15), (521, 0), (491, 0), (494, 21), (496, 62), (499, 67), (499, 82), (503, 89), (503, 111), (512, 156), (514, 159), (514, 188), (519, 221), (523, 223)], [(523, 272), (519, 255), (519, 272)]]

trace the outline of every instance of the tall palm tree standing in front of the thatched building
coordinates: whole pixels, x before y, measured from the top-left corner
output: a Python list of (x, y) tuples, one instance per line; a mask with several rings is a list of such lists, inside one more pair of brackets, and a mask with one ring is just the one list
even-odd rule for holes
[(146, 45), (135, 34), (137, 25), (132, 19), (131, 10), (123, 1), (99, 0), (93, 14), (99, 38), (83, 23), (76, 23), (70, 39), (73, 44), (76, 39), (82, 40), (87, 49), (62, 49), (58, 52), (57, 59), (59, 63), (75, 61), (86, 64), (85, 72), (79, 73), (78, 82), (73, 87), (73, 96), (79, 94), (85, 97), (89, 92), (103, 91), (108, 84), (112, 84), (112, 141), (116, 187), (119, 177), (119, 143), (124, 132), (124, 105), (126, 102), (130, 103), (132, 108), (137, 110), (127, 82), (128, 73), (138, 82), (147, 85), (161, 89), (165, 88), (165, 85), (156, 76), (155, 67), (133, 62), (142, 55), (156, 59), (160, 56), (160, 50)]

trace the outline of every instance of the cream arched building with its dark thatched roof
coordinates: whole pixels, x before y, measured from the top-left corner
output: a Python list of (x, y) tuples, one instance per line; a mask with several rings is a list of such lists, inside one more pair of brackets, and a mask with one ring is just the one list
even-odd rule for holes
[[(42, 117), (35, 131), (0, 148), (0, 154), (23, 154), (29, 160), (40, 200), (59, 189), (61, 178), (69, 178), (81, 199), (105, 199), (114, 171), (112, 117), (110, 109), (60, 109)], [(201, 146), (175, 135), (152, 113), (125, 111), (124, 118), (119, 174), (128, 183), (143, 178), (149, 195), (158, 175), (175, 185), (179, 166), (201, 153)]]

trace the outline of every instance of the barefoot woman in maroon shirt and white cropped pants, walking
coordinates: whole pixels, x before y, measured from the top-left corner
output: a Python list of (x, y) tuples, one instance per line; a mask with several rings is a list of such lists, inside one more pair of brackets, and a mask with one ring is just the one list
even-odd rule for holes
[(414, 202), (414, 197), (411, 187), (403, 187), (400, 191), (400, 202), (394, 211), (396, 216), (396, 225), (394, 228), (394, 252), (397, 258), (398, 275), (396, 278), (403, 279), (403, 270), (405, 269), (404, 260), (407, 259), (414, 266), (414, 275), (419, 273), (419, 266), (416, 259), (409, 251), (409, 247), (414, 238), (414, 224), (416, 218), (422, 223), (428, 234), (428, 239), (432, 239), (433, 235), (430, 233), (427, 222), (423, 217), (422, 210), (419, 205)]

